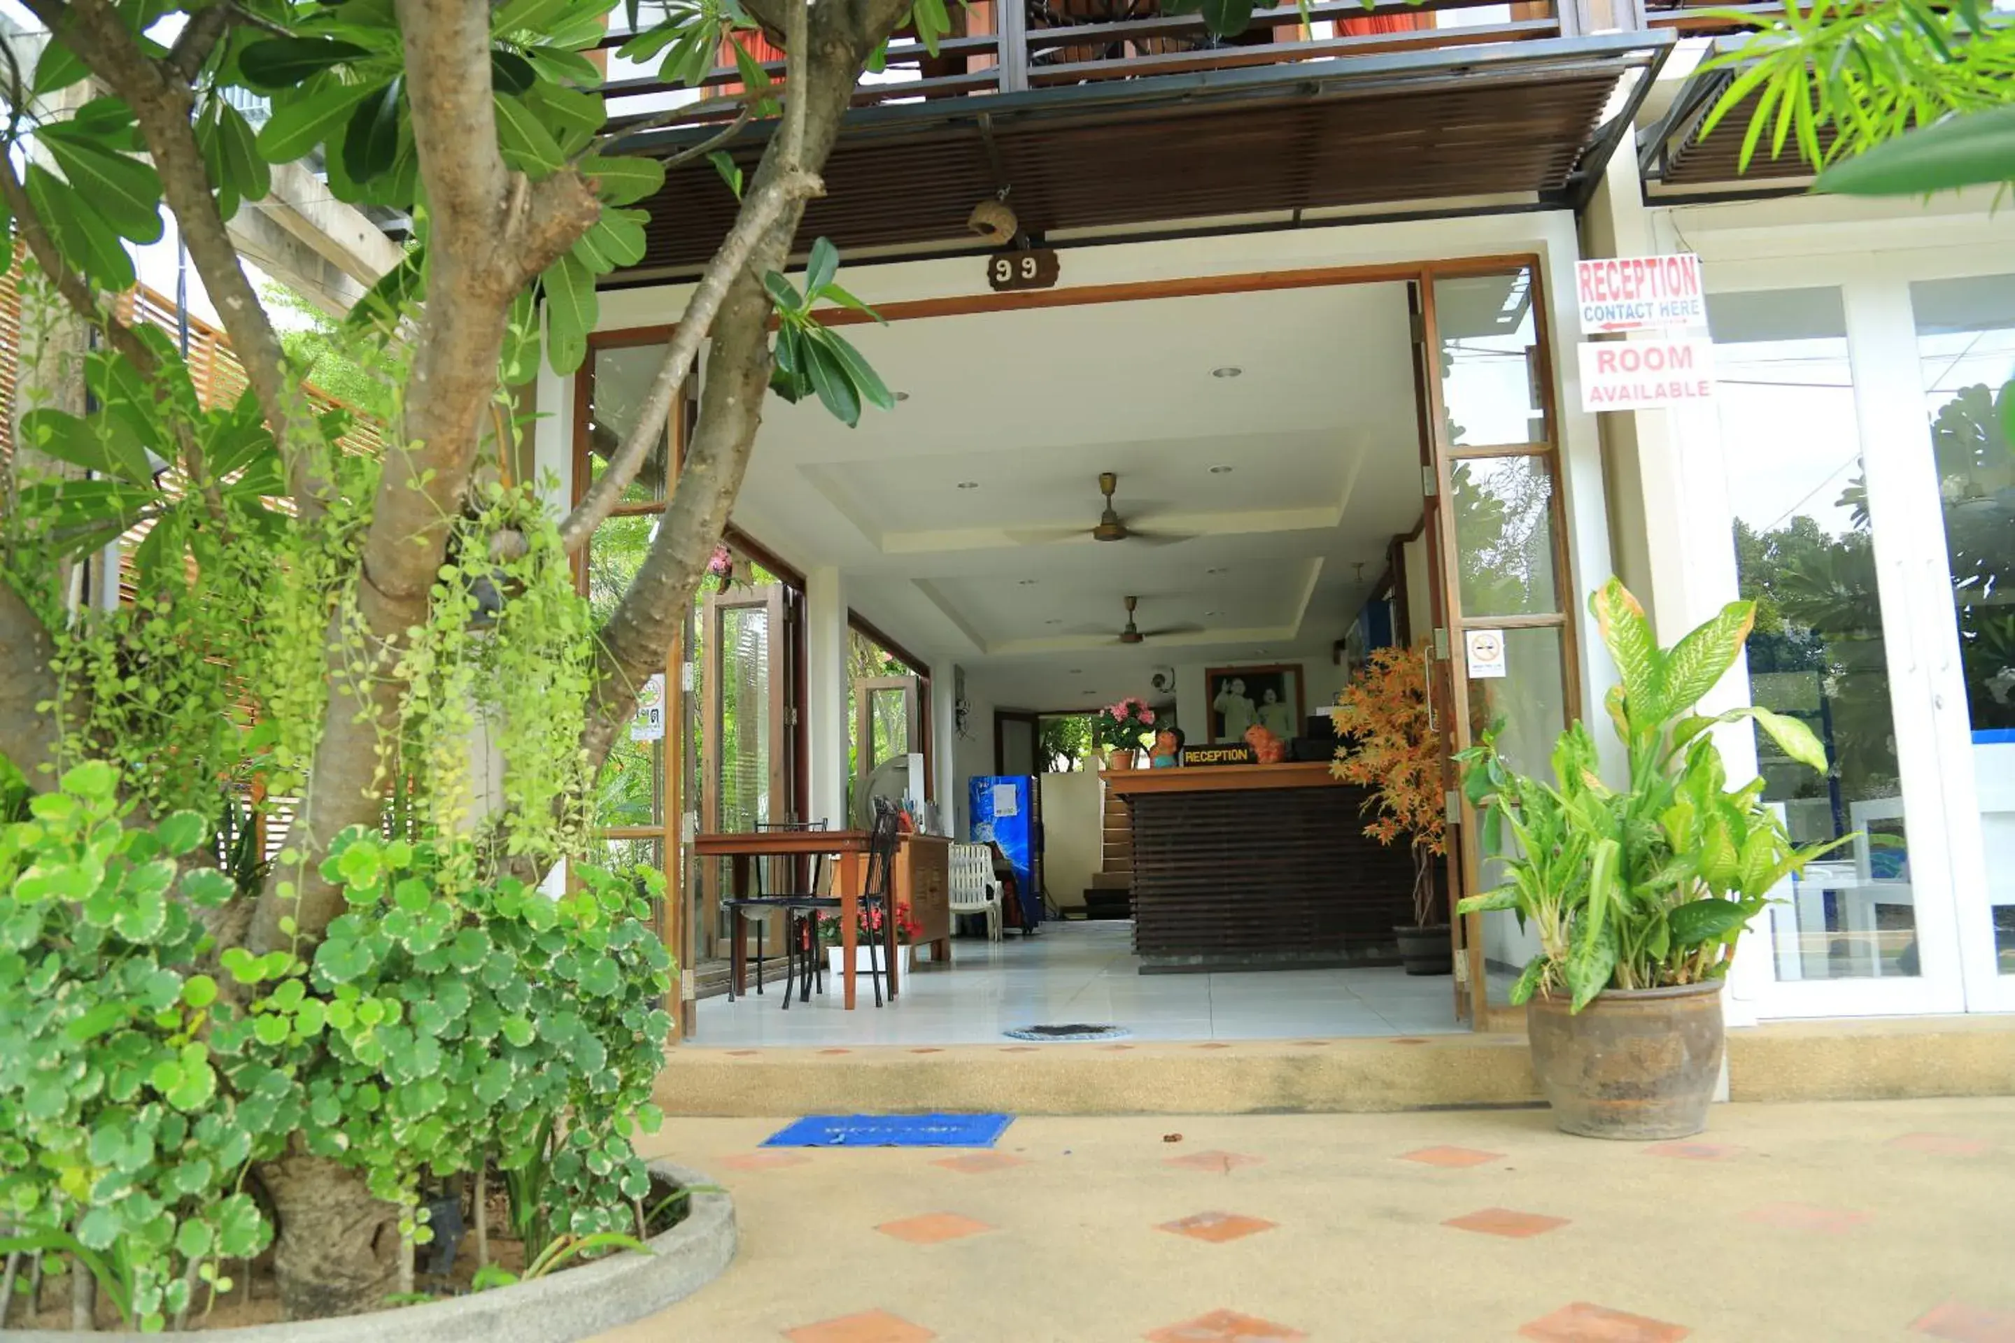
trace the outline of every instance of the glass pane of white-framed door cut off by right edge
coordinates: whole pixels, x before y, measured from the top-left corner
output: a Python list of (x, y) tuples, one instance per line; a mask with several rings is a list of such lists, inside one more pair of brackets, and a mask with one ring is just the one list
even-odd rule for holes
[(1995, 952), (2015, 975), (2015, 276), (1910, 286), (1959, 666), (1987, 844)]

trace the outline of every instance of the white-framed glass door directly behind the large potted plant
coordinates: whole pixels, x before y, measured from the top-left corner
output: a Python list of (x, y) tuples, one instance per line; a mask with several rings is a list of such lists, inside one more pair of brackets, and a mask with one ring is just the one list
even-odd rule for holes
[(1811, 727), (1828, 771), (1753, 729), (1723, 751), (1737, 777), (1753, 761), (1797, 844), (1842, 842), (1783, 882), (1737, 954), (1761, 1017), (1963, 1007), (1922, 628), (1930, 481), (1896, 298), (1866, 282), (1709, 294), (1717, 443), (1693, 463), (1757, 604), (1731, 683)]

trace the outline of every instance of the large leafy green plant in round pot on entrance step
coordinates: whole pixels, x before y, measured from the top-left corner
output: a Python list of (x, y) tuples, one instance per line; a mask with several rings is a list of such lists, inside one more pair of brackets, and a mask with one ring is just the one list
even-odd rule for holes
[(1721, 985), (1743, 926), (1777, 882), (1852, 836), (1793, 846), (1761, 779), (1729, 787), (1709, 731), (1751, 719), (1787, 757), (1826, 773), (1811, 729), (1757, 707), (1695, 713), (1735, 664), (1753, 602), (1731, 602), (1672, 648), (1658, 648), (1644, 608), (1614, 578), (1590, 610), (1622, 675), (1608, 711), (1628, 781), (1612, 789), (1598, 777), (1582, 723), (1554, 747), (1552, 781), (1515, 773), (1489, 741), (1465, 751), (1463, 787), (1505, 880), (1457, 908), (1513, 910), (1539, 936), (1511, 1003), (1525, 1005), (1556, 1124), (1588, 1138), (1685, 1138), (1707, 1128)]

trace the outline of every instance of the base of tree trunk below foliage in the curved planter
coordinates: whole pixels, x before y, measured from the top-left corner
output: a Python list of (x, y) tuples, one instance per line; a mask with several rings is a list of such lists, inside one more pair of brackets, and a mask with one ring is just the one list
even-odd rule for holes
[(286, 1319), (377, 1311), (399, 1285), (399, 1208), (298, 1148), (258, 1168), (280, 1224), (272, 1273)]

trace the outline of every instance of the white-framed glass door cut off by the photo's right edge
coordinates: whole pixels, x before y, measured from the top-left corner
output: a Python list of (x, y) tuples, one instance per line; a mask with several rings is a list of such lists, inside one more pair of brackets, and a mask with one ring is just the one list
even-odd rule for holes
[[(1922, 387), (1912, 453), (1936, 479), (1926, 616), (1953, 846), (1959, 954), (1973, 1011), (2015, 1009), (2015, 274), (1910, 284)], [(1928, 513), (1928, 509), (1926, 509)], [(1940, 562), (1942, 560), (1942, 562)]]

